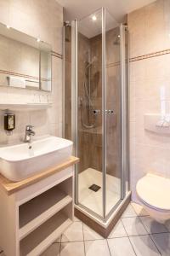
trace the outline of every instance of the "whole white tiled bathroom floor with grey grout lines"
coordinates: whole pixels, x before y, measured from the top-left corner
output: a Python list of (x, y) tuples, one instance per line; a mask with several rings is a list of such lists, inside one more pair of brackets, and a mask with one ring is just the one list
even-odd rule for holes
[[(131, 203), (108, 239), (77, 218), (41, 256), (170, 256), (170, 222), (158, 224)], [(3, 256), (3, 253), (0, 253)]]

